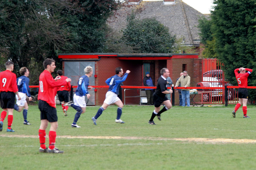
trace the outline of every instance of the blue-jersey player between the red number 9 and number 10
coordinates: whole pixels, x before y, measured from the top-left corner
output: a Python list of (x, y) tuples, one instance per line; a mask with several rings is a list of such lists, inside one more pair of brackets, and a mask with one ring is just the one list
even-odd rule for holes
[(20, 68), (20, 74), (21, 76), (17, 78), (17, 86), (19, 90), (19, 95), (21, 97), (21, 100), (18, 100), (18, 96), (16, 95), (16, 104), (14, 105), (14, 110), (17, 110), (18, 112), (21, 112), (23, 109), (23, 118), (24, 122), (23, 124), (30, 125), (30, 123), (27, 120), (28, 115), (28, 103), (26, 100), (26, 96), (28, 96), (28, 100), (31, 101), (32, 98), (30, 96), (30, 89), (28, 86), (29, 83), (29, 71), (27, 67), (21, 67)]

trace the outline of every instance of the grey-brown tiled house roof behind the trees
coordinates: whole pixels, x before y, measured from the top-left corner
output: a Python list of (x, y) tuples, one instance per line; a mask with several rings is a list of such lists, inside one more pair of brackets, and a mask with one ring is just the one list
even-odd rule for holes
[(184, 38), (186, 45), (199, 46), (198, 19), (205, 17), (204, 14), (196, 11), (181, 0), (176, 0), (175, 4), (163, 4), (163, 1), (140, 1), (139, 4), (128, 8), (121, 8), (117, 14), (109, 18), (108, 24), (116, 31), (126, 28), (126, 17), (132, 10), (141, 7), (141, 12), (137, 18), (156, 18), (164, 26), (169, 28), (172, 35), (177, 39)]

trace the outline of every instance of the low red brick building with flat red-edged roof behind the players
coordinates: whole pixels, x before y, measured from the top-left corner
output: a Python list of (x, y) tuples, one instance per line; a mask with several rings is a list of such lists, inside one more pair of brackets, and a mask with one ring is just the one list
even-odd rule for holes
[[(72, 79), (71, 84), (76, 86), (80, 76), (84, 75), (87, 65), (93, 67), (93, 76), (90, 77), (90, 85), (103, 86), (110, 76), (115, 74), (116, 67), (123, 67), (124, 72), (130, 70), (124, 86), (143, 86), (143, 77), (146, 71), (150, 71), (153, 83), (157, 84), (161, 68), (168, 68), (170, 77), (175, 85), (180, 72), (188, 71), (191, 77), (191, 86), (202, 80), (202, 59), (198, 54), (120, 54), (120, 53), (68, 53), (59, 54), (62, 59), (64, 75)], [(146, 71), (145, 71), (146, 70)], [(92, 98), (88, 105), (101, 105), (105, 99), (108, 88), (97, 88), (90, 91)], [(124, 89), (123, 101), (124, 101)], [(140, 96), (139, 90), (127, 90), (126, 96)], [(175, 105), (179, 96), (175, 93)], [(125, 98), (126, 104), (139, 104), (140, 97)]]

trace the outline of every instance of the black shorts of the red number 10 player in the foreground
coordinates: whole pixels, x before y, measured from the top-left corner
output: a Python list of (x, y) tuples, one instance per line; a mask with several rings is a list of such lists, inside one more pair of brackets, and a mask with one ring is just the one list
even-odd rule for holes
[(49, 122), (57, 122), (57, 110), (56, 108), (50, 106), (47, 102), (39, 100), (38, 108), (41, 111), (41, 120), (47, 119)]

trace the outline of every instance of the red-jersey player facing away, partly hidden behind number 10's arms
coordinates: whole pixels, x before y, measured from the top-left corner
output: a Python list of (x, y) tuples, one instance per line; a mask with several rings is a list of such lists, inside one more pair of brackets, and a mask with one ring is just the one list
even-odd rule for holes
[[(62, 70), (58, 70), (57, 74), (60, 76), (60, 78), (62, 80), (66, 80), (68, 78), (68, 77), (63, 75)], [(58, 90), (57, 90), (59, 101), (61, 103), (62, 110), (64, 112), (64, 116), (68, 116), (68, 114), (67, 114), (68, 106), (64, 106), (64, 105), (69, 102), (69, 100), (68, 100), (68, 92), (70, 90), (71, 90), (70, 82), (68, 82), (68, 84), (66, 84), (65, 86), (60, 86), (58, 88)]]

